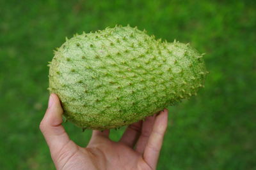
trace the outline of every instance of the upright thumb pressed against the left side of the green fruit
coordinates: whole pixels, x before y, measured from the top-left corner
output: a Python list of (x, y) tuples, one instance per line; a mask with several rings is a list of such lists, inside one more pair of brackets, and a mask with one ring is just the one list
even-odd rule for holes
[(51, 94), (47, 111), (40, 123), (40, 130), (50, 148), (52, 154), (60, 152), (63, 146), (70, 141), (67, 132), (61, 125), (63, 110), (60, 99), (56, 94)]

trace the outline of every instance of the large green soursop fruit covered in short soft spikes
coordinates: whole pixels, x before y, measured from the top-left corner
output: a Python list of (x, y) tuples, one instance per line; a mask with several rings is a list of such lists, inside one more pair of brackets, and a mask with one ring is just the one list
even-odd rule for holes
[(195, 95), (207, 73), (191, 46), (129, 26), (76, 35), (49, 66), (49, 90), (60, 97), (67, 120), (99, 130), (138, 122)]

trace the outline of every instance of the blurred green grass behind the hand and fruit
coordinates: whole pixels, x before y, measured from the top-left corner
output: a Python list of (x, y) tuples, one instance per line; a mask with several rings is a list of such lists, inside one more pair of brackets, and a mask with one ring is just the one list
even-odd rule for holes
[[(47, 61), (65, 36), (115, 24), (207, 53), (205, 89), (169, 107), (158, 169), (256, 169), (255, 1), (3, 0), (0, 6), (0, 169), (54, 169), (38, 129), (49, 96)], [(86, 146), (91, 131), (70, 123), (65, 129)]]

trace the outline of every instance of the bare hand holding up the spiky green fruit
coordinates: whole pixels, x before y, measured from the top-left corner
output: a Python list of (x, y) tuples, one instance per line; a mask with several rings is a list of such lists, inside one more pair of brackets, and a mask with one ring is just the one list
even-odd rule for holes
[(86, 148), (68, 138), (62, 114), (60, 99), (51, 94), (40, 130), (56, 169), (156, 169), (168, 110), (129, 125), (118, 142), (109, 139), (109, 130), (93, 131)]

